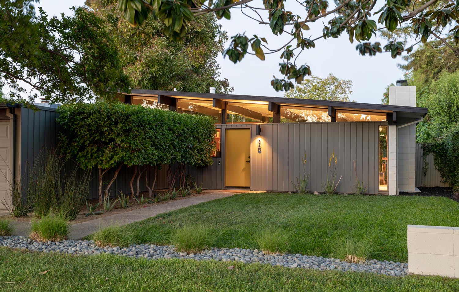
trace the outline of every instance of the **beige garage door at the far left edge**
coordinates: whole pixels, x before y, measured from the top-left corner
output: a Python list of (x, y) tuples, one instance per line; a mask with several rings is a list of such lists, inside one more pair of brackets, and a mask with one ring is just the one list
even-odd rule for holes
[(0, 120), (0, 209), (6, 209), (5, 200), (10, 204), (12, 141), (10, 121)]

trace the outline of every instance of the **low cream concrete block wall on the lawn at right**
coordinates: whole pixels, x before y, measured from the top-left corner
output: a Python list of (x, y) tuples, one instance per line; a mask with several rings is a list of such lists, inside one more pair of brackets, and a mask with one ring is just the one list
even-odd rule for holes
[(459, 227), (408, 226), (408, 269), (459, 278)]

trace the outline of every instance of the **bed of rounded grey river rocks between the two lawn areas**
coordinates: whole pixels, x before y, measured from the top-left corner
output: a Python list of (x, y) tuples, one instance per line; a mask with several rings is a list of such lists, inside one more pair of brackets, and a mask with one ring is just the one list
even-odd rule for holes
[(392, 261), (367, 260), (365, 263), (350, 264), (339, 259), (328, 259), (302, 254), (268, 255), (257, 249), (243, 248), (212, 248), (202, 253), (180, 253), (174, 245), (133, 244), (127, 248), (109, 246), (99, 247), (92, 240), (66, 240), (62, 242), (37, 242), (28, 237), (0, 237), (0, 246), (25, 249), (36, 252), (56, 252), (72, 255), (118, 254), (125, 257), (145, 259), (195, 259), (218, 260), (223, 262), (241, 262), (271, 264), (287, 268), (304, 268), (313, 270), (340, 270), (367, 272), (389, 276), (404, 276), (408, 274), (408, 264)]

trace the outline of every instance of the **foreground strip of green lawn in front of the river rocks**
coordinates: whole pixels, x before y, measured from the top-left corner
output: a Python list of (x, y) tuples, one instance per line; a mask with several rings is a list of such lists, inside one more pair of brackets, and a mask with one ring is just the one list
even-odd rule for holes
[[(235, 265), (234, 270), (227, 267)], [(40, 272), (49, 270), (46, 274)], [(12, 282), (12, 283), (11, 283)], [(0, 291), (458, 291), (459, 279), (378, 276), (263, 264), (72, 257), (0, 248)]]

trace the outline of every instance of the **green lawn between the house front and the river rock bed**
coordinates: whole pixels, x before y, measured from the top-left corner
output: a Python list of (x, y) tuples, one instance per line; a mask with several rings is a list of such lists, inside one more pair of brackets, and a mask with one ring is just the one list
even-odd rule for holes
[(215, 231), (215, 246), (258, 248), (260, 231), (289, 234), (289, 252), (330, 256), (332, 242), (369, 238), (375, 259), (407, 261), (408, 224), (459, 226), (459, 204), (448, 198), (419, 196), (244, 193), (190, 206), (133, 223), (140, 243), (168, 244), (174, 229), (202, 224)]

